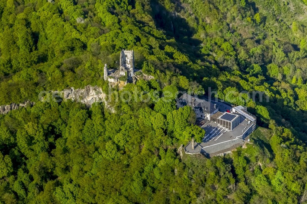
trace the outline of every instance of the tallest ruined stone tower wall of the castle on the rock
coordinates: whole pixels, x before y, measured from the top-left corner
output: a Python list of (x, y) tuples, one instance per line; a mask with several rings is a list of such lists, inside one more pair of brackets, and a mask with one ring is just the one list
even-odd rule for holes
[(134, 52), (133, 50), (122, 50), (120, 52), (119, 69), (128, 71), (128, 78), (134, 77)]

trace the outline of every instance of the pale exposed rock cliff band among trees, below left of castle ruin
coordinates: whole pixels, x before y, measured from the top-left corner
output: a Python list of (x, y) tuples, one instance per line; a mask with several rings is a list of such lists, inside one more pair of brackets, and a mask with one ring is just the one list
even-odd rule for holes
[[(86, 86), (84, 89), (64, 89), (63, 91), (53, 91), (55, 95), (59, 95), (63, 100), (73, 100), (86, 104), (87, 107), (90, 107), (95, 102), (104, 102), (105, 107), (108, 108), (111, 112), (114, 112), (113, 108), (107, 104), (106, 97), (107, 95), (103, 93), (102, 89), (98, 86)], [(33, 102), (25, 102), (22, 104), (10, 104), (0, 106), (0, 114), (6, 114), (11, 110), (18, 109), (20, 107), (25, 107), (26, 105), (33, 106)]]

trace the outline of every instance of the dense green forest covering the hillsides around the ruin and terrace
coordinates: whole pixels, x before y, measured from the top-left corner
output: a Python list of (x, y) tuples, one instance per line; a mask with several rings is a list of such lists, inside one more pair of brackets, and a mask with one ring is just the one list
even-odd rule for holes
[[(0, 115), (0, 203), (307, 203), (306, 5), (0, 0), (0, 105), (35, 102)], [(115, 113), (38, 101), (44, 90), (107, 92), (103, 65), (118, 68), (122, 49), (155, 79), (119, 92), (211, 87), (257, 116), (251, 142), (225, 157), (180, 155), (204, 130), (174, 99), (114, 102)]]

